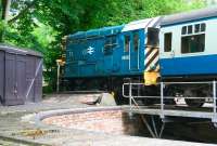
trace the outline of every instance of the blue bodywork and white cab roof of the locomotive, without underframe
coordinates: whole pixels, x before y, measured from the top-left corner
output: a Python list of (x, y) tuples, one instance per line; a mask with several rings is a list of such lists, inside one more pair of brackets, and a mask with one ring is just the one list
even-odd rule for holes
[(142, 75), (148, 30), (154, 32), (151, 27), (157, 26), (158, 18), (149, 18), (69, 35), (66, 43), (65, 77)]

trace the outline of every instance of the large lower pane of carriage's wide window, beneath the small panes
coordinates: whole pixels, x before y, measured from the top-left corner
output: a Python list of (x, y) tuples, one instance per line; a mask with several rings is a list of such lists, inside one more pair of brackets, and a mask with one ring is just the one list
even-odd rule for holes
[(181, 38), (181, 53), (204, 52), (205, 34), (192, 35)]

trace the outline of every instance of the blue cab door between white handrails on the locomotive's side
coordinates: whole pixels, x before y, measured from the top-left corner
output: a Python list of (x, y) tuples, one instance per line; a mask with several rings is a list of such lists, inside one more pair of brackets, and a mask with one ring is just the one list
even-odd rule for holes
[(139, 31), (133, 31), (130, 36), (130, 48), (129, 48), (129, 70), (139, 69)]

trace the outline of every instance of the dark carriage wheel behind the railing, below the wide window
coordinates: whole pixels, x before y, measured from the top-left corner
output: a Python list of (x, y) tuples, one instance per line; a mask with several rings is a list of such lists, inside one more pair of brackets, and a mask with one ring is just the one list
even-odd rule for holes
[[(184, 91), (184, 97), (197, 97), (199, 96), (199, 93), (197, 92), (193, 92), (191, 90), (187, 90)], [(186, 104), (189, 106), (189, 107), (202, 107), (205, 103), (205, 99), (202, 99), (202, 98), (184, 98), (184, 102)]]

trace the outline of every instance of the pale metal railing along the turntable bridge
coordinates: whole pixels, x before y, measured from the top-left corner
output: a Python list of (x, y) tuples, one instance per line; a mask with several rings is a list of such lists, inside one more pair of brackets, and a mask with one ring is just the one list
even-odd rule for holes
[[(183, 96), (165, 96), (164, 95), (164, 89), (166, 85), (168, 84), (210, 84), (213, 87), (213, 96), (210, 97), (183, 97)], [(158, 103), (159, 106), (161, 106), (161, 118), (164, 118), (165, 117), (165, 114), (164, 114), (164, 109), (165, 109), (165, 104), (164, 104), (164, 101), (166, 98), (189, 98), (189, 99), (206, 99), (206, 98), (213, 98), (213, 118), (212, 118), (212, 121), (214, 123), (217, 123), (217, 111), (216, 111), (216, 81), (204, 81), (204, 82), (159, 82), (157, 85), (159, 87), (159, 95), (156, 95), (156, 96), (150, 96), (150, 95), (133, 95), (132, 94), (132, 90), (136, 89), (135, 87), (139, 88), (139, 87), (143, 87), (145, 88), (145, 85), (143, 83), (132, 83), (132, 82), (129, 82), (129, 83), (124, 83), (123, 84), (123, 96), (124, 97), (127, 97), (129, 98), (129, 106), (130, 106), (130, 109), (132, 109), (132, 107), (136, 107), (138, 109), (140, 109), (140, 106), (139, 104), (137, 103), (136, 98), (161, 98), (161, 102)], [(126, 87), (128, 87), (128, 95), (125, 94), (125, 91), (126, 91)]]

